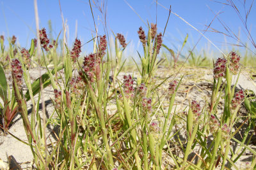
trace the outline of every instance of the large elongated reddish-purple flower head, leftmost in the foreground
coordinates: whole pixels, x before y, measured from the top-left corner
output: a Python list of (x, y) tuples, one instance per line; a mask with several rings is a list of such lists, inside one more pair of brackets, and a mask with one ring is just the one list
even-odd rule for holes
[(19, 90), (22, 89), (22, 76), (23, 76), (23, 70), (21, 63), (18, 59), (13, 59), (12, 63), (12, 78), (13, 80), (16, 80), (17, 86), (19, 87)]

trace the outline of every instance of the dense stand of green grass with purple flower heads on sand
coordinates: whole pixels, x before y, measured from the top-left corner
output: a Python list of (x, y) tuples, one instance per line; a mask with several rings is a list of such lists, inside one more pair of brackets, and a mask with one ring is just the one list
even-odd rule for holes
[[(20, 113), (36, 169), (239, 169), (237, 160), (246, 150), (252, 153), (248, 167), (256, 168), (256, 152), (248, 146), (252, 139), (250, 130), (255, 128), (255, 102), (244, 99), (243, 90), (236, 90), (243, 69), (239, 55), (230, 52), (214, 61), (209, 103), (203, 107), (191, 100), (181, 117), (175, 101), (184, 76), (175, 75), (168, 88), (163, 87), (168, 78), (155, 83), (163, 35), (157, 32), (156, 24), (148, 24), (147, 29), (147, 36), (142, 27), (138, 30), (143, 45), (140, 63), (134, 60), (138, 74), (122, 77), (125, 66), (122, 52), (127, 45), (122, 34), (113, 33), (115, 60), (111, 60), (106, 35), (95, 34), (92, 53), (82, 61), (79, 57), (82, 57), (83, 42), (75, 39), (72, 48), (68, 48), (64, 37), (60, 59), (57, 43), (50, 42), (44, 28), (38, 32), (37, 49), (34, 39), (26, 50), (17, 48), (12, 38), (6, 50), (1, 38), (1, 60), (10, 56), (0, 67), (1, 127), (8, 131), (13, 117)], [(182, 48), (187, 39), (188, 36)], [(170, 48), (164, 47), (177, 64), (179, 52), (174, 55)], [(15, 54), (13, 49), (18, 49)], [(40, 60), (36, 60), (39, 57), (36, 50), (42, 51)], [(201, 66), (206, 60), (190, 53), (192, 66)], [(29, 69), (34, 66), (31, 60), (47, 68), (47, 73), (33, 83), (29, 75)], [(12, 71), (12, 93), (4, 76), (8, 67)], [(235, 75), (236, 83), (232, 86)], [(49, 121), (39, 107), (47, 86), (54, 92), (51, 114), (56, 117), (54, 125), (59, 127), (54, 141), (46, 138), (45, 127)], [(224, 103), (220, 109), (221, 99)], [(28, 101), (32, 103), (31, 115), (28, 115)], [(241, 118), (237, 115), (243, 101), (249, 114)], [(164, 103), (168, 105), (165, 107)], [(237, 127), (238, 123), (241, 125)], [(186, 127), (182, 141), (177, 135), (179, 131), (175, 131), (179, 124)], [(237, 139), (236, 134), (242, 132), (243, 125), (246, 125), (244, 135)], [(175, 145), (173, 148), (180, 148), (179, 153), (172, 151), (171, 143)], [(234, 149), (230, 143), (239, 144), (239, 148)], [(193, 154), (196, 160), (191, 158)], [(172, 164), (164, 164), (164, 155), (169, 155)]]

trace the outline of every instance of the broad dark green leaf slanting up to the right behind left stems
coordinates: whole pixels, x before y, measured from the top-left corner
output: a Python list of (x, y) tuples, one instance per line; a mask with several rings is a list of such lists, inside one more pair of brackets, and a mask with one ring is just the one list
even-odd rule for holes
[[(62, 64), (57, 68), (57, 71), (60, 71), (61, 69), (63, 69)], [(56, 71), (55, 69), (53, 69), (51, 72), (52, 74), (54, 74)], [(40, 78), (42, 78), (42, 83), (44, 88), (51, 84), (49, 73), (43, 74)], [(33, 96), (35, 96), (36, 94), (38, 94), (38, 92), (40, 92), (40, 78), (37, 78), (31, 85)], [(25, 98), (26, 98), (26, 101), (30, 99), (29, 92), (26, 92)]]

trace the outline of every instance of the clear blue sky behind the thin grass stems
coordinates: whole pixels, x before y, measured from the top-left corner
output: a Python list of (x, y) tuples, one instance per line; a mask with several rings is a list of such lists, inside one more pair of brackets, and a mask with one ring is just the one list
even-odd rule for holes
[[(92, 0), (93, 1), (93, 0)], [(95, 0), (97, 1), (97, 0)], [(98, 0), (101, 1), (101, 0)], [(226, 2), (225, 0), (220, 0)], [(243, 1), (234, 0), (238, 8), (243, 11)], [(29, 48), (30, 39), (35, 38), (35, 11), (33, 0), (0, 0), (0, 34), (6, 36), (17, 36), (20, 46)], [(88, 0), (60, 0), (63, 17), (67, 20), (68, 25), (68, 46), (72, 46), (72, 42), (76, 38), (75, 29), (77, 21), (77, 37), (85, 43), (92, 38), (94, 25), (92, 14), (90, 11)], [(241, 39), (246, 42), (246, 36), (243, 33), (244, 27), (241, 20), (232, 8), (211, 0), (158, 0), (166, 8), (172, 5), (172, 11), (179, 14), (180, 17), (187, 20), (191, 25), (199, 30), (204, 30), (214, 18), (214, 13), (223, 12), (218, 17), (225, 22), (234, 33), (238, 34), (241, 29)], [(247, 2), (247, 8), (251, 1)], [(106, 1), (105, 1), (106, 3)], [(152, 0), (127, 0), (134, 11), (140, 15), (144, 22), (156, 22), (156, 3)], [(127, 41), (131, 41), (127, 47), (127, 51), (135, 51), (138, 46), (138, 28), (142, 26), (145, 30), (147, 27), (141, 19), (131, 10), (128, 4), (123, 0), (108, 0), (107, 4), (107, 24), (109, 32), (124, 34)], [(102, 25), (102, 15), (99, 10), (93, 6), (95, 24), (99, 27), (99, 34), (104, 34)], [(212, 11), (211, 11), (212, 10)], [(52, 22), (53, 37), (56, 38), (62, 30), (62, 20), (60, 13), (60, 5), (58, 0), (38, 0), (38, 12), (40, 18), (40, 28), (45, 27), (48, 30), (48, 21)], [(166, 20), (168, 18), (168, 10), (161, 6), (157, 6), (157, 26), (158, 32), (163, 32)], [(244, 16), (244, 13), (243, 13)], [(252, 36), (256, 39), (256, 4), (253, 5), (250, 16), (248, 17), (248, 27), (252, 30)], [(215, 19), (211, 25), (214, 29), (225, 31), (220, 22)], [(164, 43), (171, 48), (178, 48), (182, 45), (182, 41), (186, 34), (189, 34), (189, 43), (186, 48), (192, 48), (196, 41), (200, 38), (200, 34), (192, 29), (188, 24), (184, 23), (175, 15), (170, 16), (164, 36)], [(211, 41), (221, 49), (225, 49), (225, 38), (221, 34), (214, 32), (205, 33)], [(227, 38), (227, 43), (234, 43), (232, 39)], [(207, 41), (202, 38), (196, 50), (205, 48)], [(84, 45), (84, 52), (92, 52), (91, 45)], [(229, 48), (231, 48), (229, 46)], [(253, 49), (253, 48), (252, 48)], [(216, 50), (211, 46), (211, 50)]]

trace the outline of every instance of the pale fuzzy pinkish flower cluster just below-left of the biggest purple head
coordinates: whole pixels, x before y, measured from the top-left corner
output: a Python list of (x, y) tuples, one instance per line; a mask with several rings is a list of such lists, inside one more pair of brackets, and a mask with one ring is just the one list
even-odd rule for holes
[(78, 76), (77, 78), (72, 78), (70, 81), (70, 90), (71, 94), (74, 95), (73, 97), (82, 96), (83, 95), (83, 89), (85, 87), (85, 83), (81, 76)]

